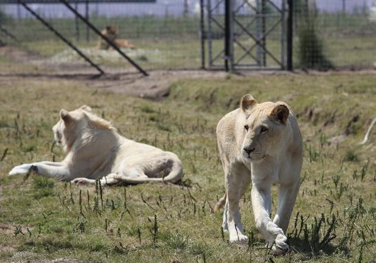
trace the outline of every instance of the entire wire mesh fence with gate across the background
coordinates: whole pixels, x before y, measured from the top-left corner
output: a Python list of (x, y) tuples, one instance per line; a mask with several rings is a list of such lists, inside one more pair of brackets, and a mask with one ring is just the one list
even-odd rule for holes
[[(105, 72), (136, 71), (105, 41), (99, 43), (99, 36), (61, 1), (23, 1)], [(103, 1), (69, 3), (99, 30), (115, 25), (123, 53), (146, 71), (199, 69), (202, 59), (205, 67), (222, 69), (229, 60), (224, 54), (228, 37), (233, 38), (231, 63), (237, 69), (286, 64), (289, 0), (231, 1), (231, 36), (224, 32), (226, 0)], [(376, 1), (293, 0), (293, 14), (295, 68), (376, 66)], [(2, 73), (97, 72), (15, 0), (0, 0), (0, 46)]]

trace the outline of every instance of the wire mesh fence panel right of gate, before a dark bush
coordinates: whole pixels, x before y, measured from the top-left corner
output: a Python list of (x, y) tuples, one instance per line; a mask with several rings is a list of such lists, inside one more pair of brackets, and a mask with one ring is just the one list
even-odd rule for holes
[(295, 67), (376, 66), (376, 1), (296, 0)]

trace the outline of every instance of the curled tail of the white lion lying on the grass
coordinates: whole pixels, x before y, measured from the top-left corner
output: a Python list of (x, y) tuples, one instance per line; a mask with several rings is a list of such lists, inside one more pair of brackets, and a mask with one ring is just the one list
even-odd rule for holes
[[(171, 154), (171, 155), (170, 155)], [(164, 177), (149, 177), (149, 176), (142, 176), (142, 177), (123, 177), (121, 176), (120, 179), (122, 182), (126, 184), (142, 184), (145, 182), (171, 182), (176, 183), (178, 182), (183, 176), (182, 170), (182, 163), (180, 162), (178, 156), (175, 154), (169, 153), (169, 158), (163, 162), (159, 162), (157, 167), (154, 167), (155, 171), (169, 171), (167, 176)]]

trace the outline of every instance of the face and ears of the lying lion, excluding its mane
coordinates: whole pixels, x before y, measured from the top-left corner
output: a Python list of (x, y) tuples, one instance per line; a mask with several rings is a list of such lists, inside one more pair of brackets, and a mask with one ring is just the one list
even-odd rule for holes
[(60, 120), (54, 125), (52, 132), (56, 145), (63, 147), (64, 151), (70, 151), (79, 130), (85, 125), (85, 112), (91, 112), (90, 107), (84, 105), (72, 112), (61, 109)]

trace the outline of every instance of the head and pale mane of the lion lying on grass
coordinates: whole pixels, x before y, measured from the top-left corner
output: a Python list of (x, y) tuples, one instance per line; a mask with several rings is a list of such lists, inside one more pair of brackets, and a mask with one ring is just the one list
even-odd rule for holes
[(92, 109), (83, 105), (79, 109), (67, 112), (65, 109), (60, 111), (60, 120), (52, 131), (56, 145), (63, 147), (64, 151), (70, 151), (72, 145), (80, 138), (84, 132), (90, 132), (93, 129), (114, 129), (111, 123), (103, 120), (94, 114)]

